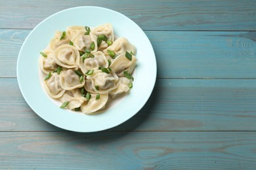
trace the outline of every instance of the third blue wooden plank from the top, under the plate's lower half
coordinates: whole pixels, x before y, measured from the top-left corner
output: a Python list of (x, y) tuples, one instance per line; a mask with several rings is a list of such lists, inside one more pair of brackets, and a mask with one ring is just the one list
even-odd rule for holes
[[(0, 131), (60, 131), (24, 101), (16, 78), (0, 78)], [(255, 131), (256, 80), (157, 80), (148, 103), (110, 131)]]

